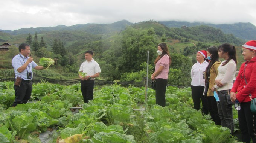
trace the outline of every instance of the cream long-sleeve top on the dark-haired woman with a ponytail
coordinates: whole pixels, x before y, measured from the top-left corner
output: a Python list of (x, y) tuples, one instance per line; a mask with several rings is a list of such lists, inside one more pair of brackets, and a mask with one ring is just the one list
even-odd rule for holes
[[(222, 61), (221, 65), (225, 61), (227, 60)], [(236, 75), (236, 62), (233, 59), (231, 59), (226, 65), (221, 65), (218, 67), (218, 75), (215, 80), (221, 80), (221, 83), (224, 86), (218, 87), (217, 85), (214, 85), (214, 88), (217, 89), (217, 91), (231, 89), (233, 86), (233, 79)]]

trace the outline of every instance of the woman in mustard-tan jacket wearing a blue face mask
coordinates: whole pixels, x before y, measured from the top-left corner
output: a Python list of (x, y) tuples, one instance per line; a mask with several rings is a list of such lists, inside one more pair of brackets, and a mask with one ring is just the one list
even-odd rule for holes
[[(215, 78), (218, 74), (218, 67), (221, 64), (218, 56), (218, 48), (215, 46), (207, 48), (207, 58), (209, 64), (205, 70), (205, 83), (209, 85), (208, 89), (205, 89), (204, 96), (207, 101), (207, 108), (210, 112), (212, 120), (216, 125), (221, 125), (221, 119), (219, 118), (218, 107), (213, 92), (211, 91), (212, 86), (215, 85)], [(206, 86), (207, 87), (207, 86)]]

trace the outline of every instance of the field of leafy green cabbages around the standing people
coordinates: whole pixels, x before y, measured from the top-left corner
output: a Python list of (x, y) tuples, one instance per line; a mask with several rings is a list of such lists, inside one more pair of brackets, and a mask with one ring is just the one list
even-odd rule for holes
[[(0, 82), (0, 142), (19, 143), (234, 143), (230, 130), (192, 108), (190, 88), (169, 86), (166, 107), (145, 87), (96, 86), (84, 103), (80, 84), (33, 85), (27, 104), (11, 107), (13, 82)], [(74, 107), (81, 107), (77, 109)]]

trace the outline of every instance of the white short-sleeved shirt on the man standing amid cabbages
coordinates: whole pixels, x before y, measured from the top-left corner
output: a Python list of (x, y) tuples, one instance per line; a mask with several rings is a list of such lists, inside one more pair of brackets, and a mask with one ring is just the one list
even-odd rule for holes
[(91, 61), (84, 61), (81, 66), (79, 71), (83, 71), (83, 73), (87, 73), (87, 76), (92, 76), (96, 73), (101, 72), (101, 68), (99, 67), (99, 64), (94, 61), (93, 59)]

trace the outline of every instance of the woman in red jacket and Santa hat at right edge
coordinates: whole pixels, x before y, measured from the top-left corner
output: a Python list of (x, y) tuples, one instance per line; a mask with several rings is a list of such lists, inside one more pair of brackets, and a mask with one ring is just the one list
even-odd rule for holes
[(241, 106), (238, 110), (238, 121), (242, 132), (242, 142), (250, 143), (252, 139), (253, 143), (256, 143), (256, 115), (250, 110), (251, 99), (249, 97), (251, 94), (252, 98), (256, 98), (256, 41), (246, 42), (242, 45), (242, 49), (246, 62), (240, 67), (230, 97), (233, 102), (238, 100)]

